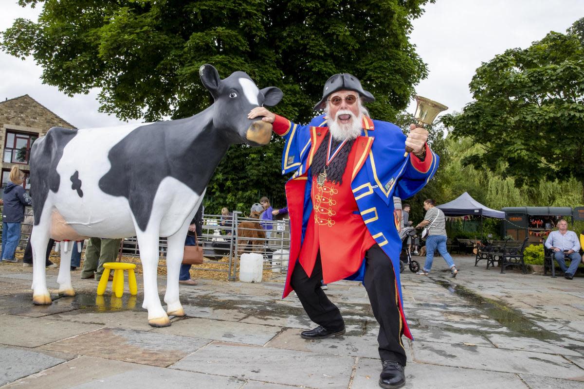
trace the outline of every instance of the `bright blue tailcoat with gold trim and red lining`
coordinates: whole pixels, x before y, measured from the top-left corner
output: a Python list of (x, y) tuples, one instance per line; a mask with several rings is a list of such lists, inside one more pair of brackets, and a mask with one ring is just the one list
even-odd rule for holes
[[(324, 115), (315, 117), (305, 126), (289, 121), (283, 125), (281, 119), (277, 118), (274, 122), (274, 131), (286, 139), (282, 153), (282, 174), (294, 172), (286, 184), (291, 222), (290, 264), (283, 294), (283, 297), (286, 297), (292, 290), (290, 276), (304, 240), (308, 217), (312, 212), (310, 197), (312, 157), (328, 128)], [(425, 171), (416, 169), (411, 157), (404, 156), (405, 139), (406, 136), (397, 125), (364, 117), (361, 136), (355, 141), (357, 156), (354, 166), (347, 166), (347, 169), (353, 169), (351, 188), (361, 218), (373, 239), (391, 258), (394, 265), (402, 314), (399, 280), (401, 240), (394, 223), (393, 197), (406, 199), (415, 195), (433, 177), (439, 163), (439, 157), (432, 150), (426, 149), (425, 168), (422, 169)], [(363, 280), (364, 263), (365, 261), (360, 271), (349, 279)], [(409, 335), (407, 326), (404, 333)]]

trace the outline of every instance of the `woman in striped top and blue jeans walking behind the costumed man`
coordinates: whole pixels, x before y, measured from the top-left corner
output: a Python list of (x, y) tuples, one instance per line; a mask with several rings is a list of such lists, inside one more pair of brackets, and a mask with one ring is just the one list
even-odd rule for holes
[(446, 250), (446, 216), (444, 216), (442, 209), (436, 208), (436, 202), (431, 198), (424, 201), (424, 209), (426, 210), (426, 216), (424, 216), (424, 220), (422, 220), (416, 228), (428, 226), (429, 234), (426, 238), (426, 263), (418, 274), (429, 274), (434, 260), (434, 251), (436, 251), (437, 248), (440, 255), (442, 255), (442, 258), (444, 258), (444, 261), (446, 261), (450, 267), (451, 277), (454, 278), (458, 274), (458, 270), (456, 269), (456, 266), (454, 266), (452, 257)]

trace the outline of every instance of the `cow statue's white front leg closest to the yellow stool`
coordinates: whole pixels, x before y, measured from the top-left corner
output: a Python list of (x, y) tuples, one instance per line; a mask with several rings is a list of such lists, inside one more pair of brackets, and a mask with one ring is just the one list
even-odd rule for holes
[(140, 260), (142, 261), (142, 272), (144, 276), (144, 303), (142, 308), (148, 310), (148, 324), (152, 327), (168, 327), (171, 321), (160, 303), (158, 297), (158, 229), (150, 229), (140, 232), (138, 227), (137, 239), (140, 247)]

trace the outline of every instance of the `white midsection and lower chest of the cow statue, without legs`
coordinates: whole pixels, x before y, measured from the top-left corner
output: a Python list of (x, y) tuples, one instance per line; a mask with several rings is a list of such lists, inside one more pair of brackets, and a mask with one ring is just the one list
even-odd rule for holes
[[(140, 124), (144, 125), (144, 124)], [(134, 236), (135, 223), (128, 200), (99, 188), (99, 180), (110, 170), (109, 150), (138, 125), (78, 130), (63, 150), (57, 165), (61, 183), (57, 193), (49, 192), (47, 205), (54, 208), (77, 233), (93, 237)], [(71, 176), (78, 171), (83, 196), (71, 188)], [(126, 174), (120, 171), (119, 174)], [(197, 194), (185, 184), (166, 177), (158, 187), (147, 230), (159, 226), (159, 236), (170, 236), (180, 228), (194, 206)], [(189, 220), (190, 221), (190, 220)]]

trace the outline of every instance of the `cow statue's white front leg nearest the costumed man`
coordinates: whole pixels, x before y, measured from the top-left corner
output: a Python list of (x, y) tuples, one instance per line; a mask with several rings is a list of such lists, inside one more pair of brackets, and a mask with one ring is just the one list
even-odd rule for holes
[(185, 237), (192, 217), (187, 218), (186, 225), (179, 232), (168, 237), (168, 253), (166, 253), (166, 294), (164, 302), (168, 304), (166, 313), (169, 316), (185, 316), (185, 311), (179, 300), (179, 272), (185, 251)]

